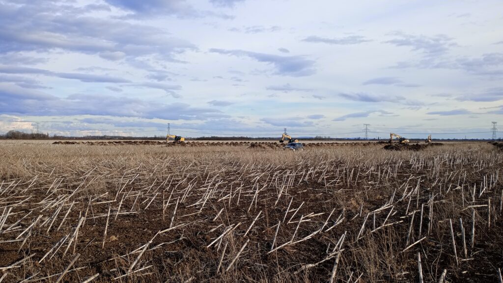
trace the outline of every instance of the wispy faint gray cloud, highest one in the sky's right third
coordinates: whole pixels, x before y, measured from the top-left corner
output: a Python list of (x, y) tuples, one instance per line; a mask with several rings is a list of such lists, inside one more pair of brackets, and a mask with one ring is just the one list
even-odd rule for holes
[(434, 36), (412, 35), (403, 32), (395, 32), (391, 35), (396, 38), (385, 41), (395, 46), (411, 47), (414, 51), (421, 51), (424, 55), (434, 56), (447, 52), (449, 48), (457, 46), (453, 38), (445, 34)]

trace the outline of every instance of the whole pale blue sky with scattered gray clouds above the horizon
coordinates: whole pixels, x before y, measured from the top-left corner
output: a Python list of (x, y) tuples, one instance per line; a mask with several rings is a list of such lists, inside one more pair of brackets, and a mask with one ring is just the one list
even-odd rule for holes
[[(0, 0), (0, 133), (489, 138), (503, 2)], [(37, 124), (38, 123), (38, 124)], [(498, 132), (498, 137), (503, 136)]]

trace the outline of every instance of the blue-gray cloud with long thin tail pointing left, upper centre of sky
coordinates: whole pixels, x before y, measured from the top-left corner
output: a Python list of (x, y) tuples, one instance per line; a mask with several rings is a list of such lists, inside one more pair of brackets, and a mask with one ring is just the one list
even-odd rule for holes
[(259, 62), (272, 64), (276, 68), (277, 75), (301, 77), (310, 76), (315, 73), (314, 61), (306, 59), (304, 56), (279, 56), (244, 50), (226, 50), (218, 48), (211, 48), (209, 51), (237, 57), (250, 57)]

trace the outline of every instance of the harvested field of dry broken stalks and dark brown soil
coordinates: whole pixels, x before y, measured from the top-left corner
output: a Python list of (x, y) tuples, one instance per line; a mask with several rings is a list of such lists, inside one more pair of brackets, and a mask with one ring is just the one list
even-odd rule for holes
[(50, 143), (0, 142), (2, 282), (501, 281), (497, 146)]

